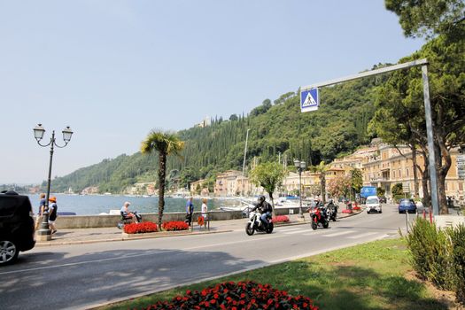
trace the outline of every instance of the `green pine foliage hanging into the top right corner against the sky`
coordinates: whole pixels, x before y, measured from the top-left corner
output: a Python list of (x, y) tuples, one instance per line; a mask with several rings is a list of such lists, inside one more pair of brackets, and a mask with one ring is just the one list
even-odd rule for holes
[(385, 0), (386, 9), (399, 16), (404, 35), (410, 37), (446, 34), (463, 35), (463, 0)]

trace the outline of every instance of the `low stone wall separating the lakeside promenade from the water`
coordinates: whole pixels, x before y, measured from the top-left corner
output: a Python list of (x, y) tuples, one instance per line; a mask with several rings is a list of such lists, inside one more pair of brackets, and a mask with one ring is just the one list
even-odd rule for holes
[[(306, 209), (304, 209), (305, 211)], [(297, 214), (298, 208), (276, 208), (276, 215)], [(141, 213), (143, 221), (159, 221), (158, 213)], [(194, 213), (194, 221), (200, 213)], [(227, 221), (242, 219), (241, 211), (212, 211), (209, 213), (210, 221)], [(90, 229), (103, 227), (116, 227), (120, 215), (59, 215), (55, 224), (58, 229)], [(164, 213), (163, 221), (184, 221), (185, 213)]]

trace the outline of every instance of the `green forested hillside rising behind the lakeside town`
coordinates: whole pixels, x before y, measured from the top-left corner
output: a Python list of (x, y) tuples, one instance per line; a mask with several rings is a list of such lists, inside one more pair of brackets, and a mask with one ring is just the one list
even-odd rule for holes
[[(212, 183), (218, 172), (242, 170), (247, 129), (247, 163), (255, 157), (264, 161), (280, 157), (289, 166), (294, 158), (312, 165), (348, 154), (369, 141), (367, 126), (374, 114), (374, 89), (384, 78), (320, 89), (321, 107), (316, 112), (301, 113), (298, 92), (288, 92), (273, 102), (264, 100), (247, 116), (215, 117), (205, 128), (182, 130), (178, 134), (185, 149), (182, 158), (168, 158), (167, 184), (185, 187), (200, 178), (209, 178)], [(147, 124), (148, 130), (152, 127), (156, 124)], [(122, 192), (135, 182), (155, 182), (157, 165), (156, 155), (120, 155), (58, 177), (52, 189), (98, 186), (100, 192)]]

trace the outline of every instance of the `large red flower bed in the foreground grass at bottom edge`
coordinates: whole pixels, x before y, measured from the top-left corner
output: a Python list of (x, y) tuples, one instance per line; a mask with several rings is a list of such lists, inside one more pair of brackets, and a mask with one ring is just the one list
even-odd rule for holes
[(318, 310), (310, 298), (292, 297), (269, 284), (247, 282), (219, 283), (203, 291), (186, 291), (171, 301), (159, 301), (147, 310), (158, 309), (310, 309)]

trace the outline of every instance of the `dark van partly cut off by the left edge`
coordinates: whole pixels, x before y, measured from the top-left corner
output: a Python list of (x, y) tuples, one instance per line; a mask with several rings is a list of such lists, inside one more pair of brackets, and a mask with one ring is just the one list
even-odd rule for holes
[(18, 259), (19, 252), (35, 245), (32, 206), (27, 196), (0, 193), (0, 266)]

